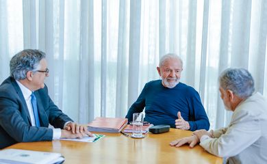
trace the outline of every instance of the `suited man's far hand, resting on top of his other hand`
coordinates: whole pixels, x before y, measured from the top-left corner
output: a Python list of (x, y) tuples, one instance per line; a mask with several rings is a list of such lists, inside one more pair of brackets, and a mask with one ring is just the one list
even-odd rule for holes
[(66, 131), (70, 131), (73, 134), (79, 134), (79, 133), (81, 133), (81, 135), (83, 135), (83, 136), (88, 135), (90, 137), (93, 137), (92, 133), (90, 133), (87, 130), (87, 127), (86, 126), (81, 126), (79, 124), (75, 124), (74, 122), (70, 122), (70, 123), (66, 124), (66, 126), (64, 127), (64, 129)]

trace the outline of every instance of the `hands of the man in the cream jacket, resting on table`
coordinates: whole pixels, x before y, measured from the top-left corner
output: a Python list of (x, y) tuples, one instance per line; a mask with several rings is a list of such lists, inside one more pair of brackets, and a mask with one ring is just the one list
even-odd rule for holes
[(213, 136), (213, 131), (206, 131), (204, 129), (194, 131), (192, 136), (190, 137), (184, 137), (182, 139), (176, 139), (175, 141), (170, 142), (170, 146), (180, 147), (184, 144), (188, 143), (190, 148), (193, 148), (197, 143), (200, 142), (200, 139), (203, 135), (208, 135), (209, 137)]

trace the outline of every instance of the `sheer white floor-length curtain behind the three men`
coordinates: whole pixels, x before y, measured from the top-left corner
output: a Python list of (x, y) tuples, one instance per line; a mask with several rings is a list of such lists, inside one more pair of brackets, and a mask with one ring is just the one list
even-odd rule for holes
[(0, 0), (0, 82), (22, 49), (47, 53), (55, 104), (76, 122), (125, 117), (166, 53), (199, 94), (211, 128), (228, 124), (218, 92), (225, 68), (247, 68), (267, 95), (267, 1)]

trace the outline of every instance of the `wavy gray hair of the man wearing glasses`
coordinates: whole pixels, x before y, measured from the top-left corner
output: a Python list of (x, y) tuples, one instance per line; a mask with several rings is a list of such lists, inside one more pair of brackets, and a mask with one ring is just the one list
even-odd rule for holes
[(45, 53), (39, 50), (25, 49), (12, 57), (10, 60), (10, 76), (16, 80), (26, 79), (28, 71), (35, 72)]

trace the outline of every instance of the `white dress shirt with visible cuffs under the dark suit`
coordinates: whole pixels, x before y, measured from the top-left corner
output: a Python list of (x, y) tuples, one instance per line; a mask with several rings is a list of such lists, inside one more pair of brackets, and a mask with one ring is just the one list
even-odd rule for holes
[[(36, 126), (35, 119), (34, 119), (34, 110), (32, 109), (31, 105), (31, 90), (29, 90), (27, 87), (25, 87), (22, 83), (19, 81), (16, 81), (18, 83), (18, 86), (21, 88), (21, 92), (23, 93), (23, 97), (26, 101), (26, 105), (29, 111), (29, 117), (31, 118), (31, 125)], [(68, 122), (66, 122), (68, 123)], [(65, 125), (66, 125), (65, 123)], [(61, 136), (61, 129), (60, 128), (53, 128), (53, 139), (60, 139)]]

